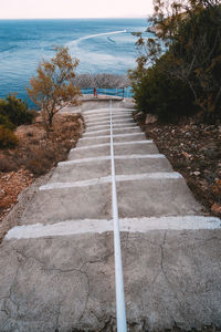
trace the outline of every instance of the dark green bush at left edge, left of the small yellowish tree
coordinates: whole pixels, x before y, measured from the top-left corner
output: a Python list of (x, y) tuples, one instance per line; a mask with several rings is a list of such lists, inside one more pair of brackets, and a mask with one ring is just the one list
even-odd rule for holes
[(34, 114), (28, 111), (27, 103), (14, 94), (9, 94), (6, 100), (0, 100), (0, 124), (13, 129), (21, 124), (30, 124)]

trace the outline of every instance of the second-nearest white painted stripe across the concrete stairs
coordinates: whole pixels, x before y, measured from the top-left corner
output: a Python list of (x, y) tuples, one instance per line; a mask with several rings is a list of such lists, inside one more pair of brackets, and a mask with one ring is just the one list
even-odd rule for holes
[[(158, 172), (158, 173), (144, 173), (144, 174), (131, 174), (131, 175), (116, 175), (117, 181), (133, 181), (144, 179), (179, 179), (182, 178), (181, 174), (177, 172)], [(75, 187), (87, 187), (108, 184), (112, 181), (110, 176), (97, 177), (87, 180), (74, 181), (74, 183), (49, 183), (41, 186), (39, 190), (53, 190), (53, 189), (65, 189)]]

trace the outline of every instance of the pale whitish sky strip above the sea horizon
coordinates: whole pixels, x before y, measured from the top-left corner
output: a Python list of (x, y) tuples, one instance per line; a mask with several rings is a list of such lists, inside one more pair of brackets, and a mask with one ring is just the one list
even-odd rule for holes
[(152, 0), (0, 0), (0, 19), (146, 18)]

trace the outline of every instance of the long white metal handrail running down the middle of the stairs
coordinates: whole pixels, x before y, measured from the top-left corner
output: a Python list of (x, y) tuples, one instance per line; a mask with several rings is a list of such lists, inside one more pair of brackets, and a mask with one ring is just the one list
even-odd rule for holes
[(124, 279), (123, 279), (123, 267), (122, 267), (122, 249), (120, 249), (120, 236), (119, 236), (117, 190), (116, 190), (116, 178), (115, 178), (112, 100), (109, 101), (109, 113), (110, 113), (110, 157), (112, 157), (112, 212), (113, 212), (113, 220), (114, 220), (115, 292), (116, 292), (117, 332), (126, 332), (127, 323), (126, 323)]

